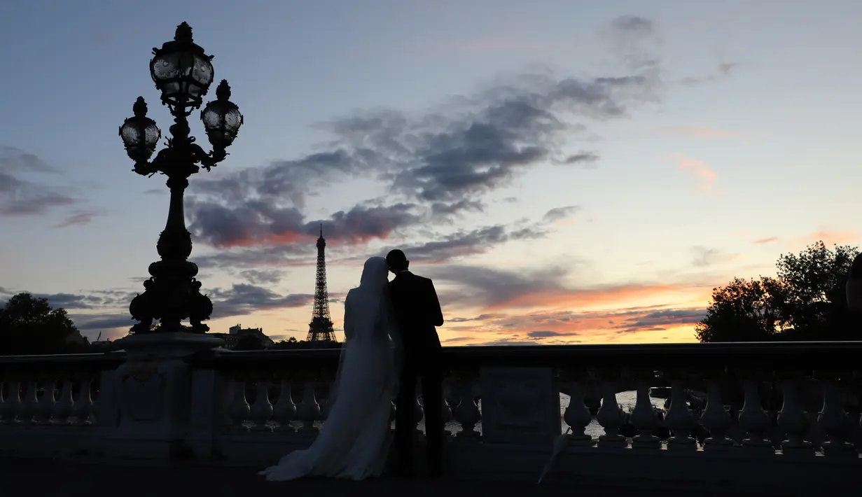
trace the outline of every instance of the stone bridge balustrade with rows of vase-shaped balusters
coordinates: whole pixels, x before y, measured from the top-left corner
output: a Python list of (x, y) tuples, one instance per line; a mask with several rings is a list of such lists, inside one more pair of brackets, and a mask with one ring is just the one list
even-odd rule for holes
[[(325, 429), (338, 350), (224, 351), (208, 339), (0, 357), (0, 454), (264, 465)], [(565, 425), (548, 479), (859, 488), (860, 355), (862, 342), (447, 347), (447, 469), (537, 478)], [(664, 411), (651, 388), (667, 392)], [(422, 417), (417, 398), (420, 439)]]

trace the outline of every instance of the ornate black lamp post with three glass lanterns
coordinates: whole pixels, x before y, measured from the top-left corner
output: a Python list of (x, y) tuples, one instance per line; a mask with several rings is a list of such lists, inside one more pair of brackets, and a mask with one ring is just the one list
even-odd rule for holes
[[(165, 230), (159, 235), (156, 249), (161, 260), (150, 264), (151, 277), (144, 282), (144, 293), (129, 304), (132, 319), (139, 321), (131, 332), (150, 332), (153, 320), (159, 320), (155, 332), (207, 332), (209, 326), (201, 321), (209, 319), (213, 305), (209, 297), (201, 294), (197, 281), (197, 264), (187, 258), (191, 255), (191, 233), (185, 227), (183, 194), (189, 177), (203, 167), (209, 171), (227, 157), (226, 149), (234, 142), (242, 125), (242, 115), (236, 104), (230, 102), (230, 86), (222, 79), (215, 89), (215, 100), (207, 103), (201, 112), (201, 121), (212, 145), (212, 152), (204, 152), (191, 136), (186, 119), (199, 109), (213, 82), (212, 56), (203, 52), (191, 39), (191, 27), (183, 22), (177, 27), (172, 41), (161, 48), (153, 48), (150, 75), (161, 91), (161, 102), (171, 110), (174, 123), (166, 148), (153, 160), (161, 138), (155, 121), (147, 117), (147, 103), (139, 96), (133, 106), (134, 116), (120, 127), (120, 137), (128, 157), (134, 160), (134, 172), (141, 176), (161, 173), (167, 177), (171, 189), (171, 203)], [(191, 326), (182, 321), (188, 318)]]

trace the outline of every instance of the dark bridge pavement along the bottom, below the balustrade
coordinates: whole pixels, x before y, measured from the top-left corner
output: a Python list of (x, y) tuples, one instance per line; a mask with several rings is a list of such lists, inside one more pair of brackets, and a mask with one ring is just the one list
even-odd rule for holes
[[(708, 488), (608, 488), (578, 485), (553, 480), (539, 487), (534, 482), (455, 480), (444, 476), (430, 481), (382, 477), (367, 481), (339, 481), (309, 478), (299, 481), (270, 482), (256, 475), (255, 468), (225, 467), (214, 464), (115, 462), (91, 460), (35, 460), (0, 458), (3, 488), (28, 488), (43, 495), (87, 494), (90, 497), (153, 497), (153, 495), (206, 495), (220, 497), (251, 495), (368, 495), (374, 497), (490, 495), (583, 495), (601, 497), (698, 497), (727, 496), (728, 491)], [(731, 492), (733, 495), (740, 495)], [(759, 494), (764, 495), (764, 494)]]

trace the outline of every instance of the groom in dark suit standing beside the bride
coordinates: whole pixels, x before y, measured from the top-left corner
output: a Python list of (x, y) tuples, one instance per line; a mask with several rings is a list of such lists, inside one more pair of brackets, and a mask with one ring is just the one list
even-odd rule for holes
[(395, 274), (389, 282), (389, 294), (403, 343), (403, 369), (395, 415), (396, 470), (401, 475), (413, 475), (413, 407), (416, 380), (421, 379), (428, 476), (434, 478), (442, 472), (443, 459), (443, 373), (440, 338), (434, 326), (443, 325), (443, 311), (440, 310), (434, 283), (408, 270), (410, 262), (404, 252), (389, 252), (386, 263)]

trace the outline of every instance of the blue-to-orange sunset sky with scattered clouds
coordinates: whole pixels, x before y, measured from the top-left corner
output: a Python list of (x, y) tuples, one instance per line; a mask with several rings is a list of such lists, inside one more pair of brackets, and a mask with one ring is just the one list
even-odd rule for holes
[(859, 19), (858, 0), (5, 2), (0, 301), (47, 296), (91, 339), (133, 324), (168, 197), (117, 127), (140, 95), (168, 134), (148, 62), (186, 21), (245, 115), (186, 193), (212, 331), (304, 339), (322, 222), (339, 330), (365, 258), (398, 247), (445, 345), (691, 341), (716, 285), (859, 243)]

